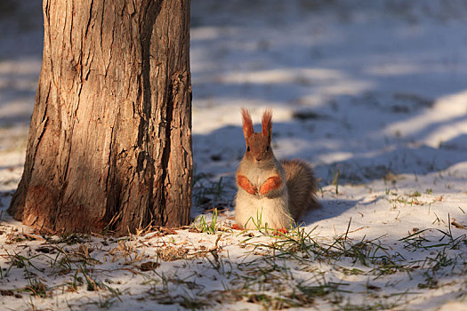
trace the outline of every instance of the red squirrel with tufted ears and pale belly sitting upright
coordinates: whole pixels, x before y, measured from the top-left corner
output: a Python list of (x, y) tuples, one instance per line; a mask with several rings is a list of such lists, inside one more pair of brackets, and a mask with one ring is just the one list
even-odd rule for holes
[(286, 231), (305, 211), (317, 208), (317, 180), (301, 160), (279, 162), (270, 146), (272, 111), (262, 115), (262, 132), (254, 132), (252, 118), (241, 110), (246, 152), (238, 165), (235, 221), (238, 227), (269, 227)]

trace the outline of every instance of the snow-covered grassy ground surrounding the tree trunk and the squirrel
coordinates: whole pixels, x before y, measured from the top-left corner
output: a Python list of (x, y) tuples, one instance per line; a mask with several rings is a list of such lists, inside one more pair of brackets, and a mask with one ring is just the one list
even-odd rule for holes
[[(38, 1), (0, 4), (0, 211), (41, 24)], [(466, 25), (462, 0), (194, 0), (197, 229), (48, 237), (3, 212), (0, 306), (467, 309)], [(240, 107), (273, 108), (276, 155), (320, 179), (322, 207), (286, 236), (229, 229)]]

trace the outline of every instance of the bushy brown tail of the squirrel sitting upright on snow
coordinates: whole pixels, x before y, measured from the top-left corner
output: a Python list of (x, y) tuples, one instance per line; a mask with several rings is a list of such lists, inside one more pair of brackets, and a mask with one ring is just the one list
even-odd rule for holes
[(307, 163), (300, 160), (283, 160), (281, 163), (286, 171), (289, 210), (298, 221), (305, 211), (319, 207), (315, 196), (317, 180)]

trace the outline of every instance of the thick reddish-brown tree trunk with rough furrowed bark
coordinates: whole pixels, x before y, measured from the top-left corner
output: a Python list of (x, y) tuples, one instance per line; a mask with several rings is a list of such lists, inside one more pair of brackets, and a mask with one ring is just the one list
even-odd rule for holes
[(48, 232), (189, 222), (189, 0), (44, 0), (44, 55), (9, 211)]

